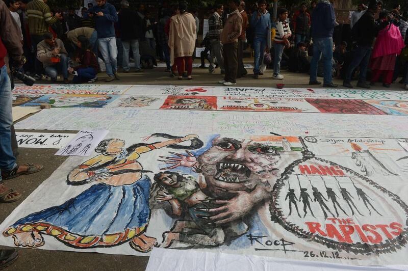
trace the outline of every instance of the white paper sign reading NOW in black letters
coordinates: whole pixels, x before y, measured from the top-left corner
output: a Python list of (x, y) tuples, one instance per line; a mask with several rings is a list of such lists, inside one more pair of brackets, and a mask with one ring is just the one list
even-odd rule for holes
[(19, 148), (60, 149), (74, 137), (74, 133), (16, 132)]

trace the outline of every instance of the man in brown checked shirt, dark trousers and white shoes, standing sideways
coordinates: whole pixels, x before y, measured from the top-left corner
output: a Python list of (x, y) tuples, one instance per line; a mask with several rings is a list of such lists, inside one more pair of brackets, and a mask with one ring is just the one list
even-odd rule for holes
[(238, 37), (242, 32), (242, 16), (238, 11), (240, 0), (230, 0), (228, 3), (231, 13), (225, 22), (220, 40), (223, 44), (225, 76), (220, 84), (224, 86), (236, 85), (238, 73)]

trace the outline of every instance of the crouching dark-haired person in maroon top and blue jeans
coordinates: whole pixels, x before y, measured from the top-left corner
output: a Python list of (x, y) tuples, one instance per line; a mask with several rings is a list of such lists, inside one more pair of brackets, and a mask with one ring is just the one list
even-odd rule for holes
[(74, 74), (73, 83), (94, 83), (97, 79), (96, 74), (98, 73), (98, 61), (92, 52), (89, 39), (83, 35), (78, 36), (77, 46), (79, 48), (77, 55), (78, 66), (68, 68), (68, 72)]

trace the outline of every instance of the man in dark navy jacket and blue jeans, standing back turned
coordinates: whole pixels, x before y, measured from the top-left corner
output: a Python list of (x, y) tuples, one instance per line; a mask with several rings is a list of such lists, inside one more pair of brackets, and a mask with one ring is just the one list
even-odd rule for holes
[(313, 59), (310, 63), (310, 81), (309, 85), (321, 85), (317, 80), (317, 65), (320, 58), (323, 58), (323, 86), (327, 88), (336, 88), (332, 80), (332, 61), (333, 61), (333, 31), (336, 22), (336, 15), (333, 6), (327, 0), (320, 0), (313, 10), (312, 16), (312, 38), (313, 38)]

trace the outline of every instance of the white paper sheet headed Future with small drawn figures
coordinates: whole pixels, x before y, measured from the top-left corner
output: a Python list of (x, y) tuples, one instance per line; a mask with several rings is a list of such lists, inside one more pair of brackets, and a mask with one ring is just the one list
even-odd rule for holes
[(88, 156), (93, 149), (106, 137), (108, 130), (79, 131), (77, 136), (55, 155)]

